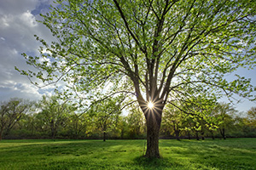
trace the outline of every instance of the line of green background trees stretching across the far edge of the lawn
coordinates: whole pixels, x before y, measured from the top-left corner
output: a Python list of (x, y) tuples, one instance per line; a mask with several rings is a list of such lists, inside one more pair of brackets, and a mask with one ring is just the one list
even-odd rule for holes
[[(131, 105), (121, 114), (119, 99), (108, 99), (79, 112), (78, 107), (52, 96), (38, 102), (10, 99), (1, 103), (0, 139), (145, 139), (142, 111)], [(200, 114), (199, 114), (200, 113)], [(256, 137), (256, 107), (238, 113), (229, 104), (193, 113), (166, 105), (160, 138), (205, 139)]]

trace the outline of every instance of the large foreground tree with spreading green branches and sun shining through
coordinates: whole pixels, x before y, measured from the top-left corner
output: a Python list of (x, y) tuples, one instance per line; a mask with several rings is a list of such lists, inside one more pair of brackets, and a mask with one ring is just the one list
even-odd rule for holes
[[(56, 0), (42, 23), (56, 37), (28, 56), (35, 85), (67, 82), (84, 99), (134, 94), (147, 124), (147, 157), (160, 157), (159, 132), (168, 100), (197, 92), (253, 99), (253, 86), (224, 75), (255, 62), (254, 1)], [(47, 53), (44, 53), (44, 52)], [(43, 70), (43, 71), (42, 71)], [(111, 88), (100, 93), (99, 88)], [(42, 85), (44, 86), (44, 85)], [(186, 93), (184, 93), (184, 91)], [(100, 95), (102, 94), (102, 95)], [(148, 108), (148, 103), (154, 108)]]

